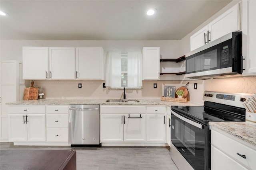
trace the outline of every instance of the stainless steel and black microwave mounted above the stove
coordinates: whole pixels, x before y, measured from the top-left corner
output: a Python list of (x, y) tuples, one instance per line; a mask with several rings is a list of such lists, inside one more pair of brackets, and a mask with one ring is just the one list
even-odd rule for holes
[(186, 77), (242, 74), (242, 32), (232, 32), (186, 54)]

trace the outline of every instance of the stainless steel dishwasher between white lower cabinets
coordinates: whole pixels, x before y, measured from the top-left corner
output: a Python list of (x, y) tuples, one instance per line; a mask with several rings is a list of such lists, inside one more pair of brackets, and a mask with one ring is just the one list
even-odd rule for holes
[(100, 105), (69, 106), (71, 147), (98, 147), (100, 143)]

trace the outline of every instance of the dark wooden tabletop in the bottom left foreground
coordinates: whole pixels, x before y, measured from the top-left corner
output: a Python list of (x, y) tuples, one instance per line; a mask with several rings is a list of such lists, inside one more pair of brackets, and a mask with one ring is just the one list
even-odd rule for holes
[(76, 151), (0, 150), (0, 170), (76, 170)]

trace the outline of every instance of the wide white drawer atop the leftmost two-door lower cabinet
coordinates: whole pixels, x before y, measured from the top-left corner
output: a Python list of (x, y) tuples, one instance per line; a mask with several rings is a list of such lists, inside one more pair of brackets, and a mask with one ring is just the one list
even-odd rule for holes
[(9, 113), (45, 113), (45, 106), (9, 106)]

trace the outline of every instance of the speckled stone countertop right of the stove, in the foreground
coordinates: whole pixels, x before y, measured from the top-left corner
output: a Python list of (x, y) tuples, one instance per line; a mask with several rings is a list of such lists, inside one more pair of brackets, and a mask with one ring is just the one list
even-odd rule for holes
[(256, 147), (256, 125), (246, 122), (223, 121), (210, 122), (210, 125)]

